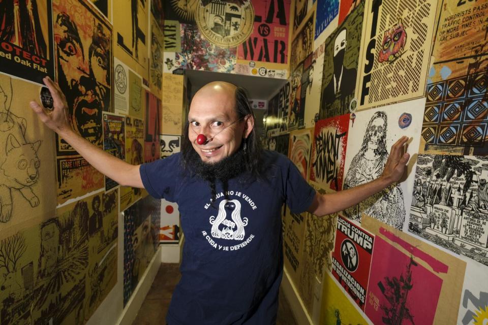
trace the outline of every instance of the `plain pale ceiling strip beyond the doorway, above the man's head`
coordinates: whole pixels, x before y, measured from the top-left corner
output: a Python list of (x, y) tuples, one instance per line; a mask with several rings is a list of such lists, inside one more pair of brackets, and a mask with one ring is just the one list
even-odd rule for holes
[(185, 70), (185, 76), (192, 84), (192, 98), (193, 94), (205, 84), (212, 81), (225, 81), (247, 89), (250, 99), (269, 100), (286, 82), (286, 79), (253, 77), (189, 69)]

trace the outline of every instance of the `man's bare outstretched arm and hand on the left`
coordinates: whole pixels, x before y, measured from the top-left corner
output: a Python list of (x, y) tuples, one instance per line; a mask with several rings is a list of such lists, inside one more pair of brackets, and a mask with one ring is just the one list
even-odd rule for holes
[(112, 156), (74, 132), (68, 121), (68, 105), (65, 95), (49, 77), (45, 77), (43, 81), (51, 92), (54, 108), (51, 112), (46, 112), (37, 102), (31, 101), (31, 108), (39, 119), (65, 139), (90, 165), (105, 176), (121, 185), (143, 188), (139, 165), (134, 166)]

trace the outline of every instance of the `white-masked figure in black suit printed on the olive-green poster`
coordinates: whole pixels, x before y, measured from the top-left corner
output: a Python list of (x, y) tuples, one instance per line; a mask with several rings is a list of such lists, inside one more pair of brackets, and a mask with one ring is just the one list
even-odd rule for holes
[[(333, 48), (333, 74), (329, 82), (322, 90), (322, 105), (320, 107), (320, 118), (327, 118), (333, 115), (345, 114), (349, 109), (347, 97), (354, 95), (356, 86), (356, 69), (344, 67), (346, 55), (347, 30), (342, 29), (335, 37)], [(330, 106), (339, 100), (340, 111), (329, 112)]]

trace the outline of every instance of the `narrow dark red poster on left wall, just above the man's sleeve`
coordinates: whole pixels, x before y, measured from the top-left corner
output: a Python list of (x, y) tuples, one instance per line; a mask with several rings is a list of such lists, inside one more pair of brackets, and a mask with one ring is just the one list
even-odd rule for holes
[(144, 123), (144, 163), (160, 158), (161, 100), (153, 93), (145, 91)]

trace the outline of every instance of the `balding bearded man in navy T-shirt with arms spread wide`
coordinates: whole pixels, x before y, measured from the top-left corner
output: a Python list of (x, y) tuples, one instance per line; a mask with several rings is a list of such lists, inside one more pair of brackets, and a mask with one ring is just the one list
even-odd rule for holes
[[(50, 79), (44, 82), (54, 110), (47, 114), (36, 102), (31, 107), (48, 127), (119, 184), (145, 187), (156, 198), (178, 203), (186, 241), (170, 325), (274, 323), (283, 275), (283, 203), (293, 213), (343, 210), (398, 181), (409, 159), (404, 137), (378, 179), (318, 194), (289, 159), (259, 149), (245, 92), (212, 82), (192, 100), (181, 153), (132, 166), (73, 132), (63, 93)], [(198, 144), (201, 135), (206, 141)]]

